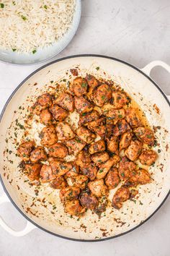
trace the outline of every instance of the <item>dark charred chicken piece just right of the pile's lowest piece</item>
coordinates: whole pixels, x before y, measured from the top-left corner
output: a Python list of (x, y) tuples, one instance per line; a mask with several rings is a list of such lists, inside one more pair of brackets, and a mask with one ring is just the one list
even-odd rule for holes
[(94, 208), (98, 205), (97, 197), (94, 195), (91, 195), (88, 192), (82, 192), (79, 196), (79, 200), (81, 202), (81, 205), (85, 207), (86, 209), (94, 210)]

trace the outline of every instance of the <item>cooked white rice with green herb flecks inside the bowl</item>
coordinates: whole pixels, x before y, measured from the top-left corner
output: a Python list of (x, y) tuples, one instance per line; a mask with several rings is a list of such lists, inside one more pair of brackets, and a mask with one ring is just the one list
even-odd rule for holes
[(33, 52), (71, 27), (76, 0), (0, 0), (0, 49)]

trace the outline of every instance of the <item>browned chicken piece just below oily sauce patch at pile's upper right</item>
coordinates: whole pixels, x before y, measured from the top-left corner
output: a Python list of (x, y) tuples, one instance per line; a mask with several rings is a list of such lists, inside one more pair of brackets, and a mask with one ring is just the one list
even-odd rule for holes
[(136, 108), (128, 108), (125, 116), (126, 121), (130, 124), (130, 127), (140, 127), (141, 121), (138, 116), (138, 110)]

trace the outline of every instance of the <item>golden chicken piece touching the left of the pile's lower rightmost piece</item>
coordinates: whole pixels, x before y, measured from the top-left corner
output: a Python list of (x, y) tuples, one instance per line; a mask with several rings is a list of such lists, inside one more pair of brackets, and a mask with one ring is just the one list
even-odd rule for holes
[(143, 143), (138, 140), (132, 140), (129, 147), (125, 150), (125, 155), (131, 160), (135, 161), (140, 155), (143, 148)]

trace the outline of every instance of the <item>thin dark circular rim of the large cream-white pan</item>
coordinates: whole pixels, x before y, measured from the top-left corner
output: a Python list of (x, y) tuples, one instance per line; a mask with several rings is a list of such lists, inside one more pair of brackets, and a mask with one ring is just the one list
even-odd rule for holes
[[(160, 93), (164, 96), (166, 102), (169, 104), (169, 107), (170, 107), (170, 102), (168, 100), (168, 98), (166, 97), (166, 95), (164, 94), (164, 92), (161, 90), (161, 88), (159, 88), (159, 86), (156, 84), (156, 82), (154, 82), (151, 77), (149, 77), (147, 74), (145, 74), (142, 70), (140, 70), (138, 67), (135, 67), (133, 66), (132, 64), (129, 64), (128, 62), (126, 61), (122, 61), (120, 59), (117, 59), (117, 58), (114, 58), (114, 57), (111, 57), (111, 56), (104, 56), (104, 55), (99, 55), (99, 54), (78, 54), (78, 55), (71, 55), (71, 56), (66, 56), (66, 57), (63, 57), (61, 59), (56, 59), (55, 61), (50, 61), (48, 64), (45, 64), (43, 65), (42, 67), (36, 69), (34, 72), (32, 72), (30, 75), (28, 75), (22, 82), (19, 83), (19, 85), (17, 86), (17, 88), (14, 89), (14, 91), (12, 92), (12, 94), (9, 96), (8, 100), (6, 101), (5, 105), (4, 105), (4, 108), (2, 109), (1, 111), (1, 114), (0, 114), (0, 123), (1, 123), (1, 119), (2, 117), (4, 116), (4, 112), (6, 111), (6, 107), (8, 106), (9, 102), (12, 100), (12, 97), (14, 96), (15, 93), (17, 93), (17, 90), (19, 90), (19, 88), (22, 87), (22, 85), (24, 84), (24, 82), (26, 82), (30, 77), (32, 77), (34, 74), (36, 74), (37, 72), (39, 72), (41, 69), (44, 69), (45, 67), (48, 67), (50, 66), (51, 64), (55, 64), (59, 61), (64, 61), (66, 59), (73, 59), (73, 58), (79, 58), (79, 57), (98, 57), (98, 58), (104, 58), (104, 59), (111, 59), (113, 61), (117, 61), (117, 62), (120, 62), (122, 64), (125, 64), (133, 69), (135, 69), (136, 71), (140, 72), (140, 74), (143, 74), (146, 78), (148, 78), (148, 80), (150, 80), (150, 82), (160, 91)], [(101, 238), (101, 239), (74, 239), (74, 238), (71, 238), (71, 237), (68, 237), (68, 236), (61, 236), (60, 234), (55, 234), (54, 232), (51, 232), (49, 231), (48, 229), (44, 229), (42, 226), (38, 225), (37, 223), (35, 223), (34, 221), (32, 221), (31, 218), (27, 217), (26, 214), (21, 210), (19, 209), (19, 207), (17, 206), (17, 204), (14, 202), (14, 200), (12, 200), (12, 197), (9, 195), (9, 192), (8, 190), (6, 189), (5, 187), (5, 184), (3, 182), (3, 179), (1, 177), (1, 174), (0, 174), (0, 182), (1, 182), (1, 185), (4, 189), (4, 192), (6, 193), (6, 195), (9, 197), (9, 200), (12, 202), (12, 204), (14, 205), (14, 207), (19, 211), (19, 213), (22, 214), (22, 216), (24, 216), (24, 218), (27, 219), (27, 221), (30, 221), (30, 223), (32, 223), (33, 225), (35, 225), (37, 228), (41, 229), (42, 231), (45, 231), (47, 232), (48, 234), (52, 234), (54, 236), (58, 236), (60, 238), (63, 238), (63, 239), (67, 239), (67, 240), (71, 240), (71, 241), (75, 241), (75, 242), (102, 242), (102, 241), (106, 241), (106, 240), (109, 240), (109, 239), (115, 239), (119, 236), (123, 236), (125, 234), (128, 234), (130, 233), (131, 231), (135, 230), (135, 229), (138, 229), (140, 226), (143, 225), (143, 223), (146, 223), (146, 221), (148, 221), (160, 208), (162, 205), (164, 205), (164, 202), (166, 201), (166, 199), (169, 197), (169, 194), (170, 194), (170, 189), (169, 189), (169, 192), (167, 193), (166, 197), (164, 198), (164, 200), (161, 202), (160, 205), (158, 205), (158, 208), (156, 208), (156, 210), (153, 211), (153, 213), (151, 213), (150, 216), (148, 216), (148, 218), (146, 218), (146, 220), (140, 222), (137, 226), (133, 227), (133, 229), (130, 229), (128, 231), (125, 231), (121, 234), (117, 234), (115, 236), (109, 236), (109, 237), (105, 237), (105, 238)]]

